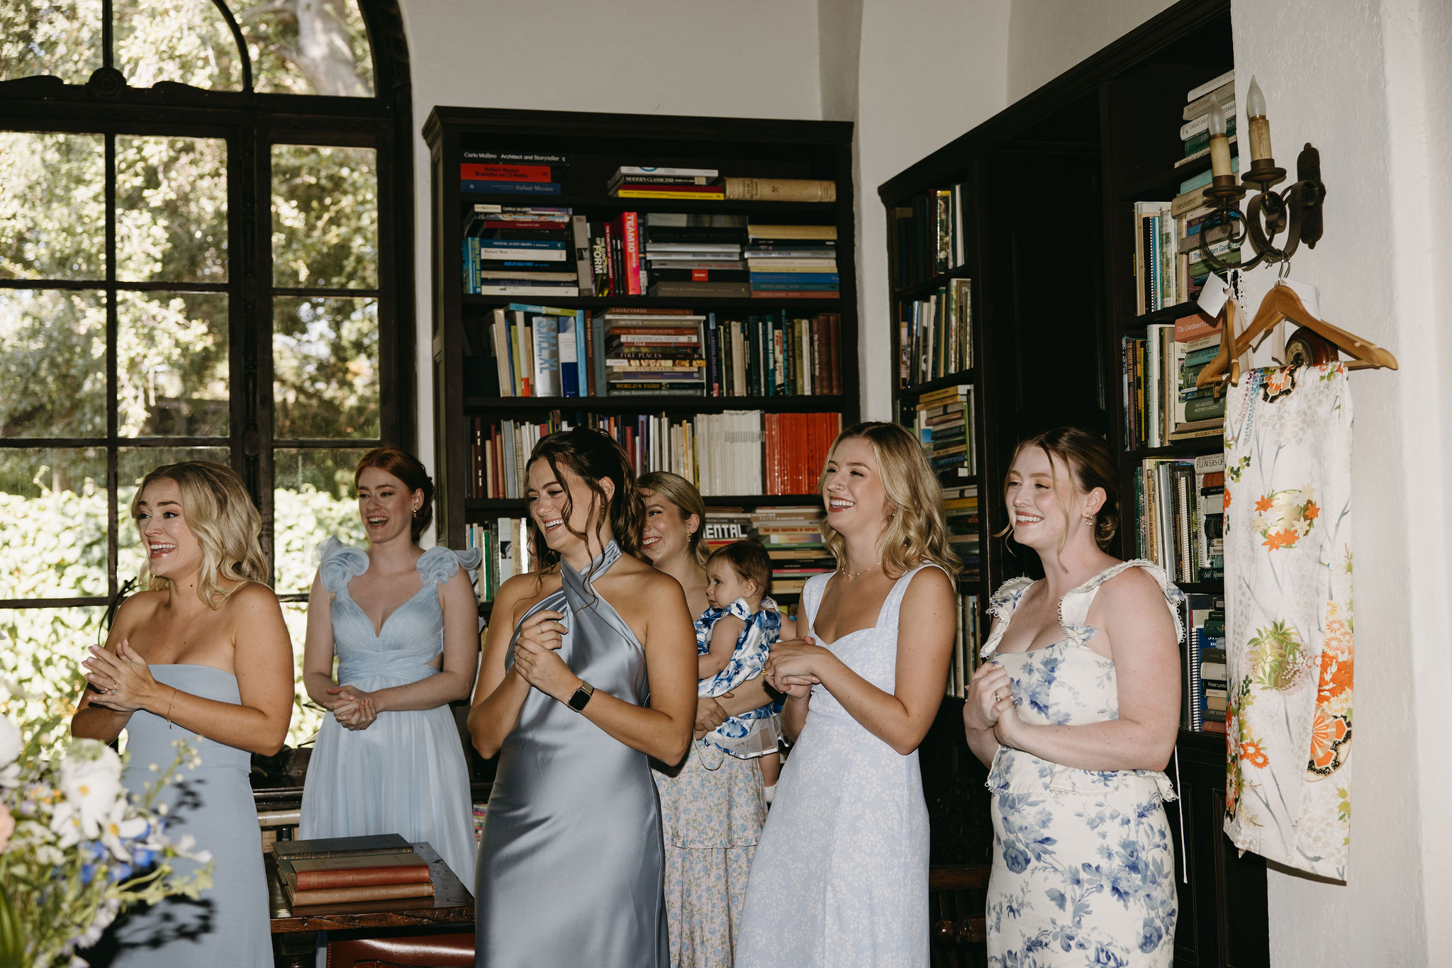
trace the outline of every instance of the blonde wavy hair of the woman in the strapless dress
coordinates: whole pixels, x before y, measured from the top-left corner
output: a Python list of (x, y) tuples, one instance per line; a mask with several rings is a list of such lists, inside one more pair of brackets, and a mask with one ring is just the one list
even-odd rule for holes
[[(163, 464), (141, 479), (136, 496), (131, 499), (132, 521), (136, 520), (141, 495), (157, 480), (174, 480), (182, 491), (183, 521), (202, 546), (196, 594), (203, 602), (221, 608), (244, 583), (267, 583), (267, 560), (258, 540), (263, 515), (235, 470), (211, 460)], [(224, 589), (224, 576), (238, 583)], [(167, 579), (152, 575), (147, 565), (141, 567), (139, 583), (152, 592), (171, 586)]]

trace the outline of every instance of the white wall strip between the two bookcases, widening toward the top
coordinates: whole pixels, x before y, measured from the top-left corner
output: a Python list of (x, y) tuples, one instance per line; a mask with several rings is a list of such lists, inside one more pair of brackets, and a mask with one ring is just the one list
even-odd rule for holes
[(857, 116), (862, 417), (892, 418), (887, 216), (877, 186), (1008, 104), (1005, 0), (861, 0)]

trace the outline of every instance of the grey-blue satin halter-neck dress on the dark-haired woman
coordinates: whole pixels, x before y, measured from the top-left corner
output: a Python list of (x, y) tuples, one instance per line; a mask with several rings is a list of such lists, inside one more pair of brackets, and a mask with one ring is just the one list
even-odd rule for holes
[[(620, 559), (611, 541), (587, 570)], [(617, 700), (649, 700), (645, 649), (610, 602), (560, 562), (563, 585), (521, 617), (565, 614), (559, 656)], [(518, 640), (518, 625), (514, 630)], [(514, 643), (505, 656), (514, 665)], [(645, 753), (530, 689), (499, 749), (475, 884), (475, 964), (666, 968), (661, 803)]]

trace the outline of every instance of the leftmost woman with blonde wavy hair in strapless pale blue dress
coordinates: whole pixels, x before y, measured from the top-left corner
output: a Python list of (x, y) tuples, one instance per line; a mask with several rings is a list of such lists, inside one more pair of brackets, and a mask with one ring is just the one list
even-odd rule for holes
[(148, 591), (126, 599), (105, 649), (91, 649), (83, 663), (90, 689), (71, 733), (109, 743), (126, 730), (122, 782), (134, 794), (155, 781), (151, 763), (173, 760), (173, 740), (192, 745), (200, 765), (183, 766), (180, 789), (166, 788), (161, 800), (167, 834), (190, 834), (211, 852), (212, 887), (197, 901), (176, 897), (128, 911), (91, 964), (269, 968), (267, 884), (248, 775), (251, 753), (270, 756), (287, 736), (292, 643), (264, 583), (261, 515), (241, 477), (202, 460), (147, 475), (131, 514), (147, 547)]

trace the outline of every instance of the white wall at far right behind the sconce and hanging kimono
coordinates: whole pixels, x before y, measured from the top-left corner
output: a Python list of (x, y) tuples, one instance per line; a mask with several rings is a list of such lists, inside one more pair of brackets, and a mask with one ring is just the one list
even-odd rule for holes
[[(1424, 17), (1426, 15), (1426, 17)], [(1423, 35), (1423, 20), (1440, 33)], [(1352, 377), (1356, 495), (1356, 718), (1346, 884), (1269, 874), (1270, 958), (1282, 967), (1446, 965), (1442, 763), (1448, 675), (1449, 361), (1436, 277), (1433, 135), (1446, 149), (1446, 4), (1279, 0), (1233, 7), (1236, 73), (1266, 93), (1276, 160), (1321, 152), (1326, 238), (1292, 274), (1326, 318), (1392, 350), (1401, 370)], [(1440, 45), (1440, 46), (1437, 46)], [(1436, 62), (1436, 64), (1433, 64)], [(1442, 74), (1429, 86), (1429, 65)], [(1237, 94), (1244, 99), (1244, 83)], [(1443, 255), (1446, 244), (1442, 242)], [(1250, 308), (1270, 271), (1249, 277)], [(1439, 305), (1440, 300), (1440, 305)]]

